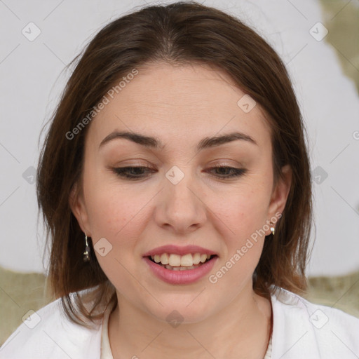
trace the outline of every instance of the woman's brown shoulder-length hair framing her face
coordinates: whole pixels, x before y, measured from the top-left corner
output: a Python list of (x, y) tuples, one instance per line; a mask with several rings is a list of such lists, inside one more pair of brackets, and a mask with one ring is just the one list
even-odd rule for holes
[[(72, 61), (80, 57), (79, 54)], [(289, 164), (292, 184), (276, 234), (267, 236), (253, 273), (253, 289), (269, 298), (273, 286), (301, 294), (312, 222), (312, 193), (305, 128), (289, 76), (280, 57), (261, 36), (226, 13), (196, 2), (148, 6), (118, 18), (90, 41), (67, 82), (40, 155), (36, 191), (50, 243), (48, 278), (69, 318), (101, 318), (116, 300), (97, 259), (82, 260), (84, 235), (69, 207), (74, 184), (81, 187), (88, 126), (66, 136), (100, 102), (118, 79), (151, 62), (198, 63), (220, 69), (266, 112), (271, 125), (274, 183)], [(79, 292), (94, 300), (90, 311)], [(70, 295), (70, 293), (72, 293)], [(74, 302), (72, 302), (74, 295)]]

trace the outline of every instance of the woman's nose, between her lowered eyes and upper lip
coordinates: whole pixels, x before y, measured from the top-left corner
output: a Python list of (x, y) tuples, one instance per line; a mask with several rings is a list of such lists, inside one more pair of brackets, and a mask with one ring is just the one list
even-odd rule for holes
[(183, 236), (203, 226), (207, 219), (206, 205), (199, 186), (189, 173), (178, 183), (168, 178), (163, 178), (163, 189), (156, 196), (155, 220), (158, 226)]

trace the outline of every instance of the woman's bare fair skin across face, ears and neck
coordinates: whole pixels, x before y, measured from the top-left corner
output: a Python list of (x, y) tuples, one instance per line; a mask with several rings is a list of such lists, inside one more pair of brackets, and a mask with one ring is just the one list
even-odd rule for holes
[[(210, 67), (155, 63), (139, 69), (90, 123), (82, 190), (70, 203), (93, 243), (106, 238), (112, 245), (106, 256), (95, 254), (118, 297), (109, 318), (115, 359), (264, 357), (271, 303), (252, 290), (264, 236), (217, 283), (208, 280), (283, 212), (290, 190), (288, 167), (273, 186), (269, 123), (259, 104), (248, 113), (238, 107), (243, 95), (229, 76)], [(115, 129), (158, 137), (165, 148), (116, 139), (99, 149)], [(236, 140), (195, 153), (203, 137), (235, 130), (257, 145)], [(137, 165), (154, 172), (130, 180), (111, 171)], [(173, 165), (184, 173), (178, 184), (165, 177)], [(223, 179), (231, 172), (210, 170), (217, 165), (248, 172)], [(142, 255), (167, 244), (200, 245), (219, 259), (196, 283), (164, 283)], [(173, 310), (184, 318), (177, 327), (166, 320)]]

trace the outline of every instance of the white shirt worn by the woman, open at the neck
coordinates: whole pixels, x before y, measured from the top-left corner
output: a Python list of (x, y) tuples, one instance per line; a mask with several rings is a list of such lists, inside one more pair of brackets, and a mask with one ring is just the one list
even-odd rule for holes
[[(269, 358), (359, 358), (359, 318), (313, 304), (283, 288), (271, 295), (271, 303)], [(69, 321), (57, 299), (15, 330), (1, 346), (0, 359), (112, 359), (107, 334), (109, 312), (108, 307), (107, 317), (90, 330)], [(134, 355), (141, 357), (140, 353)]]

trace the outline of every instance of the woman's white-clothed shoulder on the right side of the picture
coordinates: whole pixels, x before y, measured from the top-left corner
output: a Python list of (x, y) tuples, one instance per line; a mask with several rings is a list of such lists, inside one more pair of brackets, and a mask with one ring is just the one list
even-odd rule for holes
[(314, 304), (283, 288), (271, 296), (272, 358), (355, 358), (359, 355), (359, 318)]

